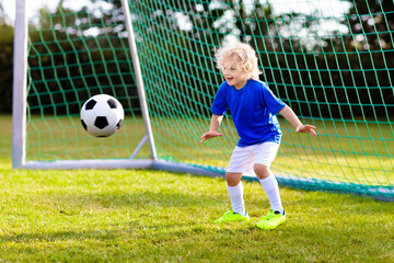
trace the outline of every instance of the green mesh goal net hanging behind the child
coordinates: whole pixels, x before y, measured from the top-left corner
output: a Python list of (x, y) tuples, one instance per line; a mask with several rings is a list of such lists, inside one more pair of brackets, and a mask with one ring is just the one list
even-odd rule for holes
[[(373, 3), (371, 3), (373, 2)], [(144, 122), (120, 1), (61, 1), (28, 30), (26, 161), (127, 159)], [(278, 116), (279, 183), (394, 199), (393, 1), (128, 1), (158, 159), (223, 174), (237, 134), (199, 145), (221, 72), (213, 53), (235, 41), (257, 52), (260, 79), (317, 137)], [(79, 112), (106, 93), (125, 108), (108, 138)], [(136, 159), (150, 159), (148, 144)]]

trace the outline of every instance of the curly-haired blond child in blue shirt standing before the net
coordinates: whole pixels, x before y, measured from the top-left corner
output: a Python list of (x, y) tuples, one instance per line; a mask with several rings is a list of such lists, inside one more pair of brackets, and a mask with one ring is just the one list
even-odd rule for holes
[(275, 115), (280, 113), (296, 127), (296, 133), (310, 133), (316, 136), (315, 127), (303, 125), (294, 112), (276, 98), (265, 82), (258, 80), (260, 72), (257, 57), (250, 45), (236, 43), (224, 46), (217, 52), (216, 61), (225, 81), (220, 84), (213, 100), (210, 128), (201, 136), (200, 144), (222, 136), (218, 128), (228, 110), (233, 117), (240, 140), (225, 172), (232, 210), (224, 213), (215, 222), (250, 219), (245, 210), (241, 178), (244, 172), (253, 170), (270, 203), (270, 210), (262, 217), (257, 227), (274, 229), (286, 220), (278, 182), (269, 171), (281, 139), (281, 130)]

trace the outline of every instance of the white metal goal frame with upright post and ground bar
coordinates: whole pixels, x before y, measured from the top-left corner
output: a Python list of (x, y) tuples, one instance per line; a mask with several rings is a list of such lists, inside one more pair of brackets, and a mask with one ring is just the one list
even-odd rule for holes
[[(130, 19), (127, 0), (121, 0), (128, 43), (136, 76), (136, 84), (140, 101), (146, 136), (128, 159), (95, 159), (95, 160), (57, 160), (57, 161), (26, 161), (26, 99), (27, 99), (27, 16), (26, 0), (16, 0), (14, 26), (14, 66), (13, 66), (13, 112), (12, 112), (12, 168), (13, 169), (157, 169), (171, 172), (223, 176), (224, 170), (215, 172), (202, 167), (158, 160), (154, 138), (150, 123), (148, 104), (143, 89), (143, 80), (139, 65), (137, 45)], [(146, 142), (149, 142), (150, 159), (135, 159)]]

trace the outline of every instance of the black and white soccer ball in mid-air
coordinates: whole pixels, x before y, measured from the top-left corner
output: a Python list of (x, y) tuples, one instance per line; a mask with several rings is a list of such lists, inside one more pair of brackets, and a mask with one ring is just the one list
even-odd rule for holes
[(121, 104), (107, 94), (92, 96), (81, 108), (83, 128), (96, 137), (108, 137), (119, 130), (124, 118)]

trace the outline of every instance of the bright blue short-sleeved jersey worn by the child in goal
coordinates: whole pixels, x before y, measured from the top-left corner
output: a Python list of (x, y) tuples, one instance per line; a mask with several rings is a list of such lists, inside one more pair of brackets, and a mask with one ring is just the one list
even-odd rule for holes
[(265, 141), (280, 144), (282, 133), (275, 115), (285, 106), (267, 83), (250, 79), (240, 90), (227, 81), (221, 83), (211, 112), (224, 115), (230, 110), (240, 136), (237, 146), (244, 147)]

